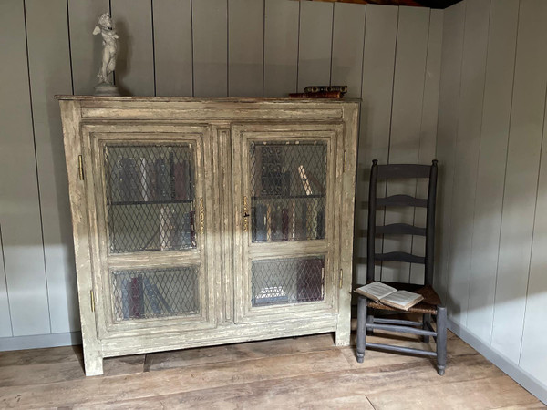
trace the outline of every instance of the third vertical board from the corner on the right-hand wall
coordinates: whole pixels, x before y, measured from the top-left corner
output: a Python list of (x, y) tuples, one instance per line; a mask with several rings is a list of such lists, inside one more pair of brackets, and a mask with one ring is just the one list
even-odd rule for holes
[(519, 0), (490, 4), (467, 326), (490, 343), (500, 243), (501, 204), (511, 117)]

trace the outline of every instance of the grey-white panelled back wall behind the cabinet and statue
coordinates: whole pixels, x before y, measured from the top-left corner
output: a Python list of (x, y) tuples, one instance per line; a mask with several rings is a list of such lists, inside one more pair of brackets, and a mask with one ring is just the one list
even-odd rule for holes
[[(361, 202), (371, 160), (433, 159), (440, 10), (292, 0), (2, 0), (0, 74), (9, 81), (0, 87), (0, 350), (77, 342), (54, 96), (93, 92), (101, 45), (91, 32), (108, 11), (119, 32), (116, 82), (125, 94), (286, 97), (308, 85), (347, 84), (347, 97), (363, 98), (358, 235), (365, 235)], [(357, 241), (358, 256), (365, 246)], [(356, 282), (365, 280), (362, 267)]]

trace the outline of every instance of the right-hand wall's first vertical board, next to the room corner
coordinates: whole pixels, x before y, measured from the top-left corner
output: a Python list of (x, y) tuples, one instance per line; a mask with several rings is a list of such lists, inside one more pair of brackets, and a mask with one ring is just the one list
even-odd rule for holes
[(459, 86), (465, 24), (465, 2), (444, 10), (442, 59), (439, 90), (439, 124), (437, 158), (439, 159), (439, 191), (437, 195), (436, 257), (434, 284), (441, 299), (448, 304), (447, 267), (450, 246), (450, 204), (454, 176), (454, 149), (458, 135)]

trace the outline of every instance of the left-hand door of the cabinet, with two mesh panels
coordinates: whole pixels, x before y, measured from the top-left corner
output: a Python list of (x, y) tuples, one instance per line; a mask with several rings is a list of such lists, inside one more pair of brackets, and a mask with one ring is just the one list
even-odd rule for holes
[(84, 135), (98, 336), (210, 328), (208, 130), (133, 128)]

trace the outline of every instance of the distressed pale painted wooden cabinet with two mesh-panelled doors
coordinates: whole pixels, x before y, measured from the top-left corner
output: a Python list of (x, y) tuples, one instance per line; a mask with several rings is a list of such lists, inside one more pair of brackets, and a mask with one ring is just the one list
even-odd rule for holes
[(123, 354), (349, 343), (357, 102), (58, 99), (86, 374)]

